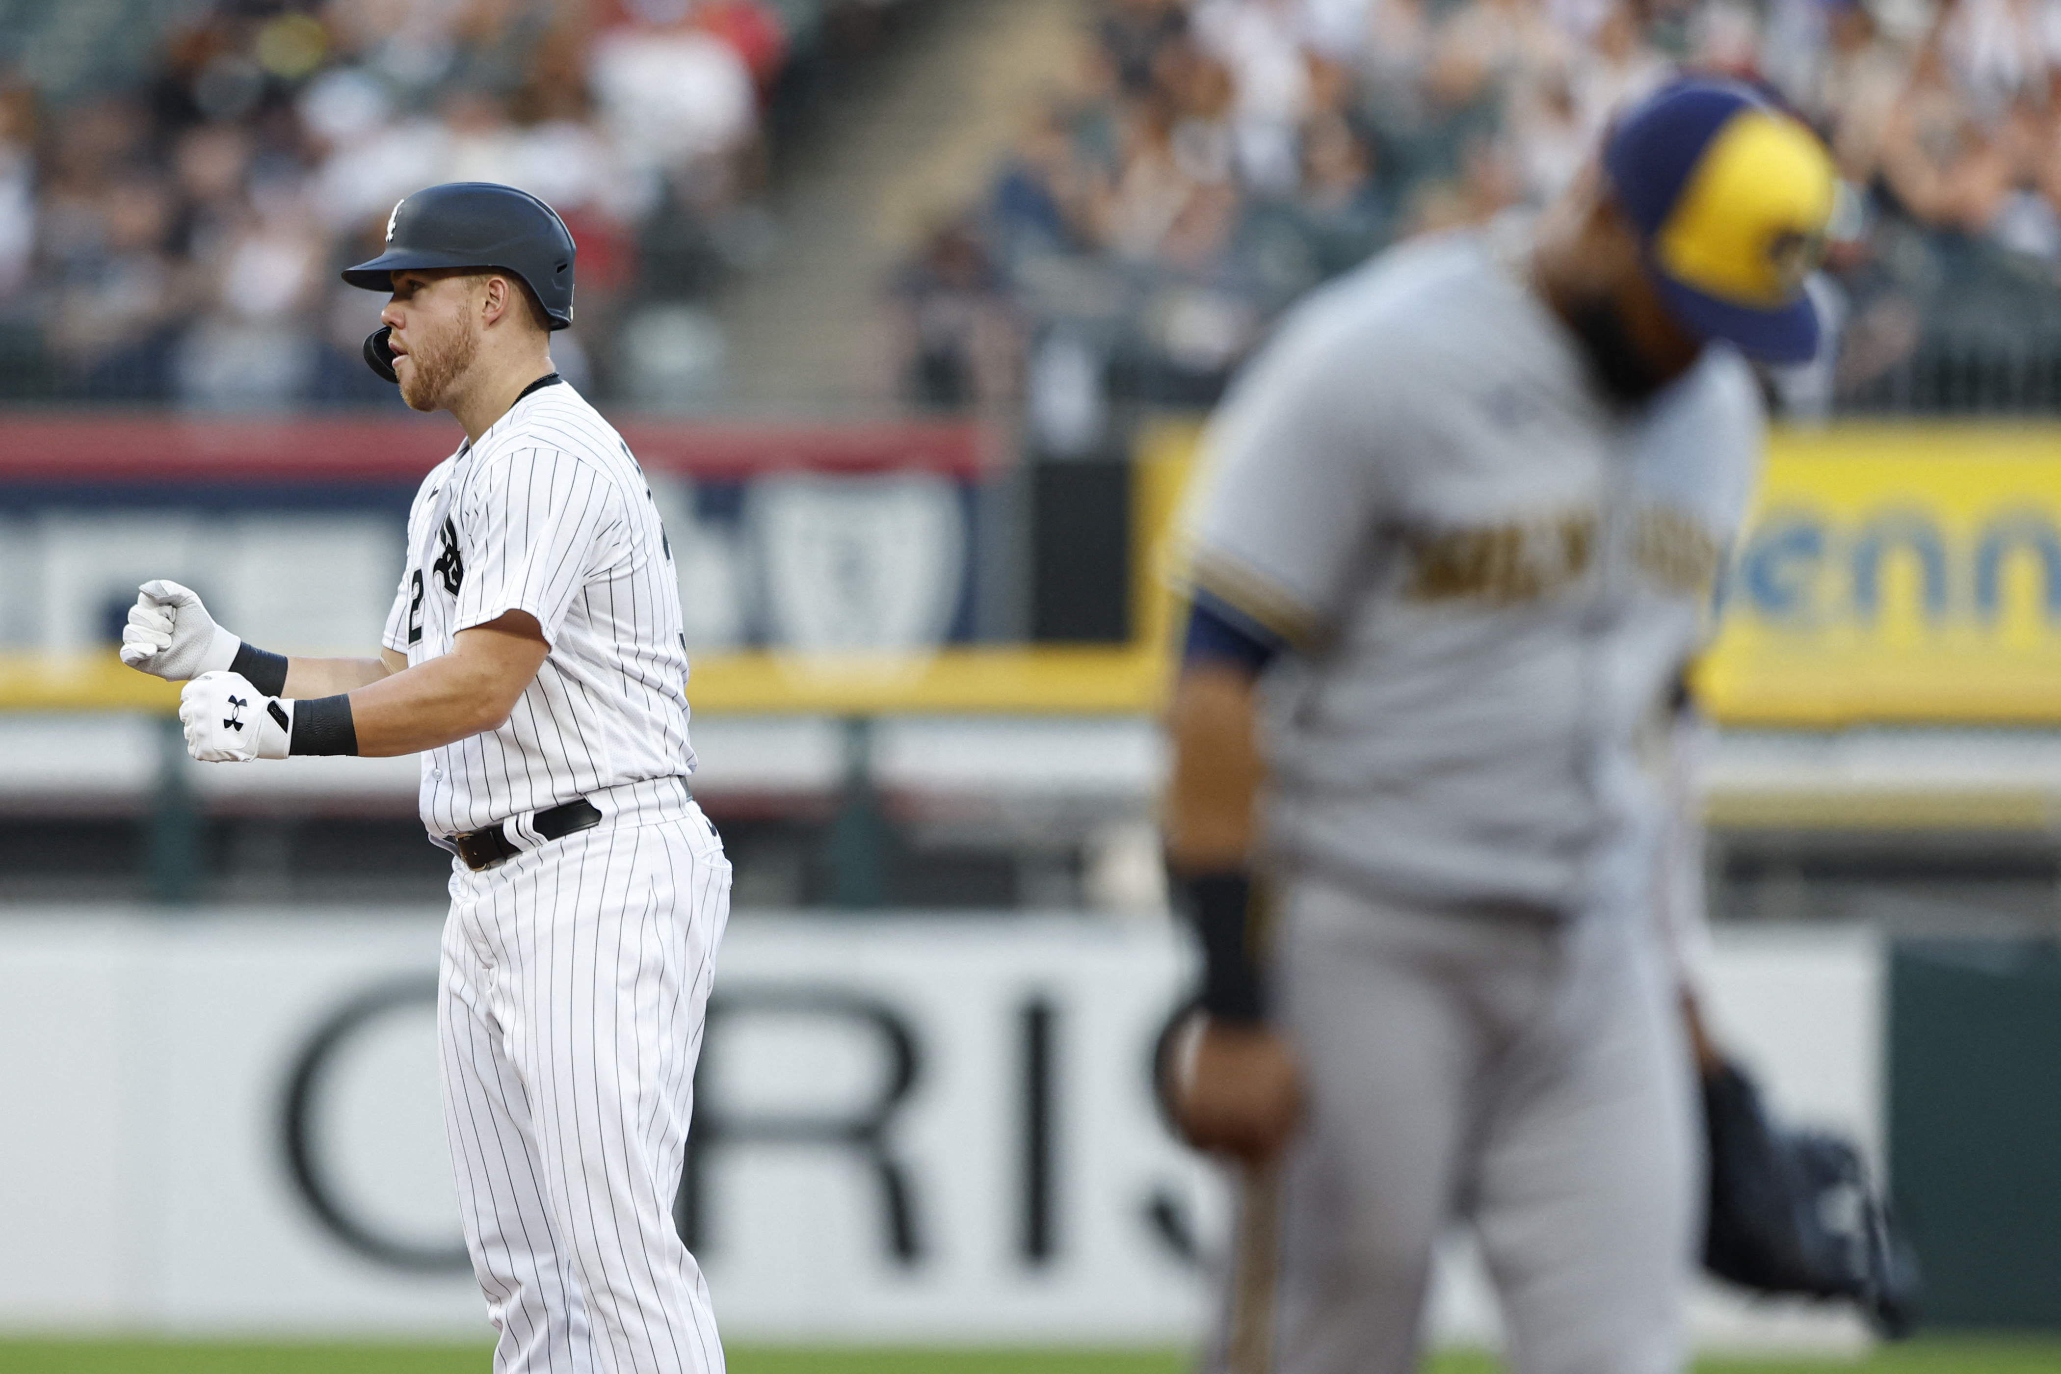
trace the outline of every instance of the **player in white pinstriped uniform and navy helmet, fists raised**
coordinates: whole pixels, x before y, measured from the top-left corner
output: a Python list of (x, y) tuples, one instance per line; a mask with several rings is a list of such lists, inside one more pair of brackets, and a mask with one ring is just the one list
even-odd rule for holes
[(122, 659), (190, 678), (198, 760), (423, 754), (423, 824), (455, 855), (441, 1077), (495, 1370), (719, 1372), (672, 1197), (730, 863), (686, 787), (651, 492), (550, 367), (573, 239), (523, 192), (433, 185), (344, 280), (392, 293), (367, 363), (466, 431), (408, 513), (383, 651), (266, 653), (155, 581)]

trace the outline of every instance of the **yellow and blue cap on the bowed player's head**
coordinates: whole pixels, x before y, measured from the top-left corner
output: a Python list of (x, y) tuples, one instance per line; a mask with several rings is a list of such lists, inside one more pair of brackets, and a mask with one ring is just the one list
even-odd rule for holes
[(1799, 119), (1742, 82), (1684, 76), (1618, 119), (1603, 171), (1684, 328), (1766, 363), (1818, 352), (1803, 280), (1838, 181)]

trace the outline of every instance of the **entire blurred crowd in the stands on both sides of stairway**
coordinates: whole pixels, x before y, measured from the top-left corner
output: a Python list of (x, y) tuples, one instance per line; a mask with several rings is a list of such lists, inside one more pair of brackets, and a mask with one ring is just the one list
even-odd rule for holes
[[(923, 2), (923, 0), (905, 0)], [(641, 309), (754, 270), (783, 105), (853, 0), (16, 0), (0, 49), (0, 396), (196, 410), (385, 398), (336, 268), (394, 202), (511, 181), (579, 245), (561, 363), (608, 396)], [(888, 6), (890, 8), (890, 6)], [(148, 12), (148, 14), (146, 14)], [(888, 387), (1208, 404), (1286, 303), (1385, 243), (1540, 204), (1676, 64), (1762, 82), (1853, 187), (1793, 412), (2061, 404), (2055, 0), (1101, 0), (1082, 60), (882, 282)], [(66, 41), (70, 39), (70, 47)], [(89, 41), (91, 39), (91, 41)], [(87, 47), (80, 51), (80, 47)]]

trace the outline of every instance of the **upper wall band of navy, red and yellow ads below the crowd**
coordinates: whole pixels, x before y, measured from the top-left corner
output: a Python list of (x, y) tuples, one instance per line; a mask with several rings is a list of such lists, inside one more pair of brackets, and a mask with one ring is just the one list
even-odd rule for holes
[[(624, 435), (676, 554), (697, 711), (1158, 707), (1193, 422), (1150, 426), (1121, 468), (1033, 466), (1028, 496), (969, 424)], [(109, 653), (144, 577), (254, 643), (363, 653), (445, 443), (402, 418), (0, 418), (0, 577), (25, 589), (0, 606), (0, 709), (167, 711)], [(2061, 426), (1775, 431), (1719, 581), (1698, 690), (1727, 725), (2051, 729)]]

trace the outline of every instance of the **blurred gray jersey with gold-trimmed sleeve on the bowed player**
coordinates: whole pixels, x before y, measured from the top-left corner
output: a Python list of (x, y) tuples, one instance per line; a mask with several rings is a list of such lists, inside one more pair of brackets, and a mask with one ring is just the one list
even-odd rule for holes
[(1406, 245), (1298, 307), (1210, 426), (1185, 566), (1300, 651), (1270, 682), (1270, 857), (1579, 913), (1649, 882), (1641, 744), (1762, 420), (1723, 348), (1608, 406), (1527, 245), (1517, 222)]

